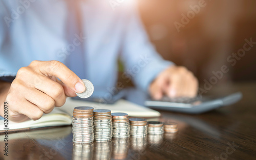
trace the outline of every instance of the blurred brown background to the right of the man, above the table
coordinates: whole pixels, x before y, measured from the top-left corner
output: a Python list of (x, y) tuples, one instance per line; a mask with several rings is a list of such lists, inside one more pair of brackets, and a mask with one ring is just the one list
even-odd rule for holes
[(256, 42), (256, 1), (207, 0), (194, 17), (190, 14), (193, 18), (179, 32), (175, 22), (182, 23), (182, 14), (191, 13), (190, 6), (202, 0), (138, 1), (146, 31), (164, 59), (186, 66), (201, 83), (223, 65), (230, 71), (218, 84), (256, 80), (256, 44), (236, 65), (227, 61), (233, 52), (243, 48), (245, 39)]

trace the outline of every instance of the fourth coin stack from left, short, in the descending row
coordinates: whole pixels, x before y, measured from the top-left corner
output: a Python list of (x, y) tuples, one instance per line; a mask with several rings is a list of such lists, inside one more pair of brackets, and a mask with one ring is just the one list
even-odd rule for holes
[(131, 131), (133, 137), (145, 137), (147, 135), (147, 122), (144, 118), (130, 118)]

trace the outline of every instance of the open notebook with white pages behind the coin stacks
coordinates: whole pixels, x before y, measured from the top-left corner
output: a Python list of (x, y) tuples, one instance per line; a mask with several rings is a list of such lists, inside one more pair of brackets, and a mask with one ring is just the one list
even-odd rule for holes
[[(27, 130), (32, 128), (70, 125), (75, 106), (92, 106), (94, 109), (108, 109), (112, 113), (124, 112), (132, 117), (159, 117), (160, 113), (124, 99), (114, 104), (101, 104), (67, 98), (66, 103), (60, 108), (55, 108), (50, 114), (44, 114), (39, 120), (28, 120), (21, 123), (8, 121), (9, 131)], [(4, 132), (4, 120), (0, 121), (0, 132)]]

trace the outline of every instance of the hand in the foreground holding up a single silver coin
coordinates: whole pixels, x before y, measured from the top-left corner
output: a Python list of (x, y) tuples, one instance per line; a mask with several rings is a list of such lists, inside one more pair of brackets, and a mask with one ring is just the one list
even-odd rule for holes
[(42, 114), (50, 113), (54, 106), (62, 106), (66, 96), (74, 97), (75, 92), (84, 90), (86, 87), (81, 79), (64, 64), (33, 61), (18, 70), (10, 86), (6, 97), (10, 120), (37, 120)]

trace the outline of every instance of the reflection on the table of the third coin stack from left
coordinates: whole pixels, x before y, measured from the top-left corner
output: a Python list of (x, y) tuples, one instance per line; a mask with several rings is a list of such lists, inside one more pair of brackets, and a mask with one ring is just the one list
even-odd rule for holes
[(128, 138), (113, 138), (112, 149), (114, 159), (125, 159), (128, 153), (130, 139)]

